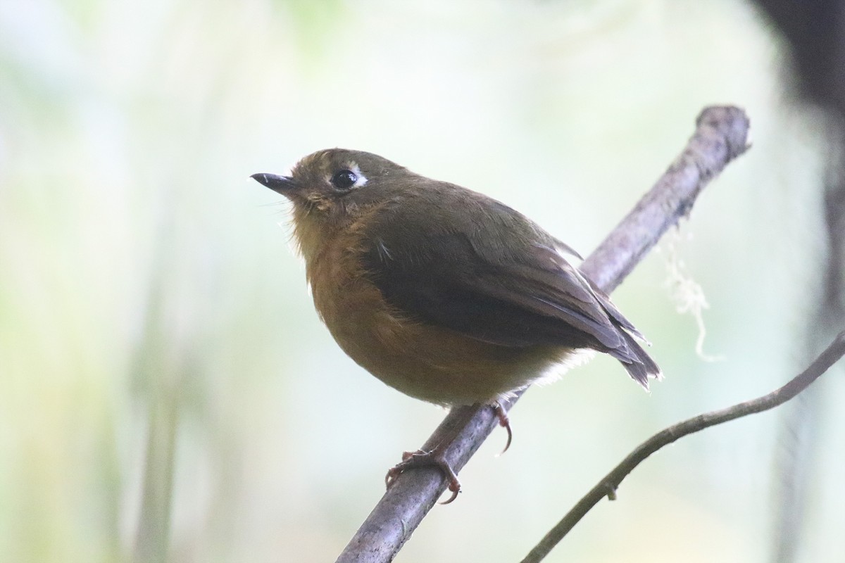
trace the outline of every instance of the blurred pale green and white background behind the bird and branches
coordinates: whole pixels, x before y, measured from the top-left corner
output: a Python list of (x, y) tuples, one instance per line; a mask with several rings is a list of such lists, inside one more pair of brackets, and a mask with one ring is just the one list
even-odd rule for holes
[[(598, 358), (529, 391), (406, 563), (519, 560), (651, 433), (808, 362), (826, 123), (766, 21), (739, 0), (0, 2), (0, 561), (334, 560), (442, 419), (336, 347), (250, 174), (368, 150), (586, 255), (713, 103), (748, 111), (753, 148), (614, 294), (666, 380)], [(841, 370), (817, 386), (799, 559), (842, 561)], [(769, 560), (785, 412), (659, 452), (549, 560)]]

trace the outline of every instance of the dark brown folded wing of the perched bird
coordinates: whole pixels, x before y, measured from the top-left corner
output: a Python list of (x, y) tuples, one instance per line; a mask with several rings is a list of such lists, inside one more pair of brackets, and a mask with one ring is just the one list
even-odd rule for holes
[(639, 333), (566, 262), (558, 241), (498, 205), (475, 222), (472, 235), (401, 208), (385, 214), (378, 235), (365, 239), (366, 275), (391, 306), (417, 321), (505, 347), (597, 349), (643, 385), (659, 374), (631, 336)]

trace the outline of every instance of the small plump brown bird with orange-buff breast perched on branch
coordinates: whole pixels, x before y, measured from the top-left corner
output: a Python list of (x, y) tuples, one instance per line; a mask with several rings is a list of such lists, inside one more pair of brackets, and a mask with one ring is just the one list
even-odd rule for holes
[[(292, 202), (315, 309), (346, 355), (412, 398), (490, 405), (508, 445), (502, 402), (582, 351), (619, 360), (646, 389), (662, 376), (642, 334), (570, 263), (578, 253), (496, 199), (350, 149), (251, 177)], [(388, 485), (435, 465), (453, 501), (443, 446), (406, 452)]]

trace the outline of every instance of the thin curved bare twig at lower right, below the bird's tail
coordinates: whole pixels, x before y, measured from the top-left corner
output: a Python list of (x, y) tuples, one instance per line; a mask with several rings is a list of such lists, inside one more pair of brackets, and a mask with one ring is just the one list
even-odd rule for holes
[(669, 426), (668, 428), (657, 432), (657, 434), (651, 436), (651, 438), (636, 447), (633, 452), (630, 452), (628, 457), (625, 457), (624, 460), (622, 460), (622, 463), (619, 463), (619, 465), (613, 468), (613, 471), (605, 475), (604, 478), (590, 490), (590, 492), (584, 495), (584, 497), (581, 498), (581, 501), (578, 501), (578, 503), (572, 507), (572, 510), (567, 512), (566, 516), (564, 516), (563, 519), (546, 534), (540, 543), (537, 544), (537, 546), (535, 546), (528, 555), (526, 555), (526, 558), (523, 559), (521, 563), (537, 563), (548, 555), (548, 552), (551, 551), (561, 539), (564, 539), (564, 536), (569, 533), (576, 523), (581, 521), (581, 518), (583, 518), (593, 506), (597, 505), (598, 501), (601, 501), (605, 496), (608, 496), (608, 498), (613, 500), (613, 497), (616, 494), (616, 489), (619, 487), (619, 484), (622, 483), (622, 479), (627, 477), (628, 474), (636, 468), (636, 466), (642, 463), (646, 457), (649, 457), (652, 453), (657, 452), (657, 450), (664, 446), (668, 446), (679, 438), (693, 434), (699, 430), (704, 430), (705, 428), (709, 428), (714, 425), (720, 425), (723, 422), (728, 422), (729, 420), (739, 419), (740, 417), (747, 416), (749, 414), (761, 413), (764, 410), (774, 409), (778, 405), (786, 403), (789, 399), (798, 395), (799, 392), (802, 392), (807, 387), (810, 387), (810, 383), (815, 382), (815, 380), (827, 371), (831, 365), (840, 360), (842, 355), (845, 355), (845, 331), (839, 333), (837, 338), (834, 338), (831, 345), (828, 346), (827, 349), (822, 352), (812, 364), (810, 364), (810, 367), (801, 372), (798, 376), (795, 376), (783, 387), (780, 387), (760, 398), (735, 404), (733, 407), (728, 407), (727, 409), (714, 410), (709, 413), (699, 414), (694, 418), (684, 420), (683, 422), (679, 422), (676, 425)]

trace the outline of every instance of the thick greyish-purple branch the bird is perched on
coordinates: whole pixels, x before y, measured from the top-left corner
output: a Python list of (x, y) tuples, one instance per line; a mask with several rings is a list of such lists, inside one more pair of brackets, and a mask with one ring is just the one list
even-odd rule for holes
[[(669, 166), (651, 191), (581, 264), (581, 271), (607, 293), (618, 286), (662, 234), (690, 213), (701, 189), (731, 160), (748, 148), (749, 121), (733, 106), (701, 111), (696, 128), (683, 152)], [(517, 393), (510, 406), (521, 395)], [(423, 450), (430, 450), (460, 432), (446, 452), (446, 460), (459, 471), (498, 424), (492, 409), (456, 407)], [(446, 488), (438, 468), (415, 468), (399, 475), (373, 512), (346, 545), (337, 563), (384, 563), (393, 560), (423, 517)]]

